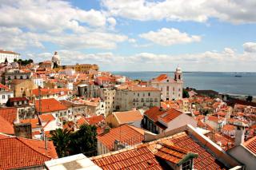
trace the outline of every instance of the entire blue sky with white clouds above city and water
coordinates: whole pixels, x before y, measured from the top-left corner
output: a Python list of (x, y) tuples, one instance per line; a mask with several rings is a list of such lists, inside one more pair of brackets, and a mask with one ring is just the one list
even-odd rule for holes
[(103, 71), (256, 72), (255, 0), (0, 0), (0, 49)]

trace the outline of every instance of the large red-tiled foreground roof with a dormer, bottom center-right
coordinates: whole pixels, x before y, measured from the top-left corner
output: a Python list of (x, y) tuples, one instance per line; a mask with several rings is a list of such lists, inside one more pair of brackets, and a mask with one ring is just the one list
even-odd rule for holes
[[(159, 144), (162, 147), (159, 148)], [(186, 132), (90, 159), (102, 169), (166, 169), (166, 164), (162, 164), (161, 160), (177, 164), (185, 159), (187, 153), (195, 155), (194, 169), (226, 169)]]

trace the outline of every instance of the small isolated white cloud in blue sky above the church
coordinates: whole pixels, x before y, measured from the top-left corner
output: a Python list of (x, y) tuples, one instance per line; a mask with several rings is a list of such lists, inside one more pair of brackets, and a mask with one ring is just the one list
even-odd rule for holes
[(158, 30), (156, 32), (150, 31), (145, 34), (140, 34), (139, 37), (165, 46), (201, 41), (200, 36), (181, 33), (179, 30), (174, 28), (162, 28), (161, 30)]

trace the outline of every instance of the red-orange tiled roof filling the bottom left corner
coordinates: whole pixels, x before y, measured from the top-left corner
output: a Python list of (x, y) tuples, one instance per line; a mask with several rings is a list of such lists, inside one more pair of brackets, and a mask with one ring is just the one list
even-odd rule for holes
[(19, 137), (0, 139), (0, 169), (40, 166), (47, 160), (58, 158), (54, 144), (47, 142), (46, 150), (43, 140)]

